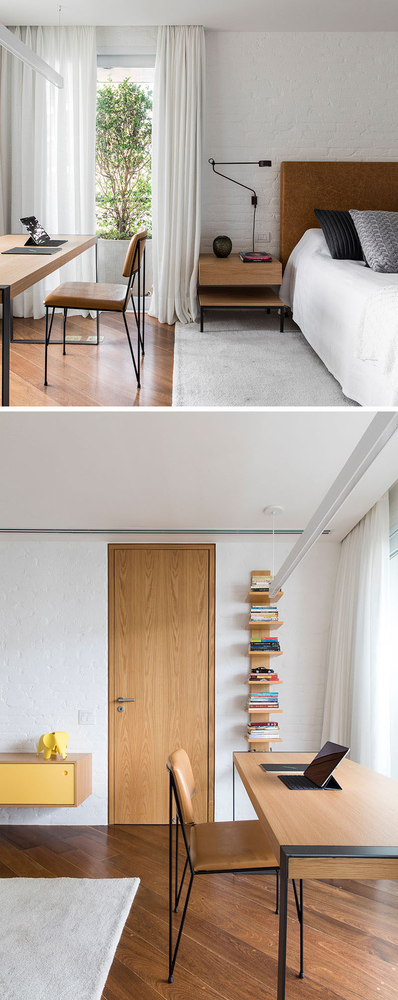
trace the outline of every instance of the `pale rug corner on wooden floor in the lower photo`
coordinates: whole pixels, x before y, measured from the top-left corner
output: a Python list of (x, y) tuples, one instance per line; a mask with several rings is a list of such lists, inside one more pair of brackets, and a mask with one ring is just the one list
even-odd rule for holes
[(139, 881), (0, 879), (1, 1000), (100, 1000)]

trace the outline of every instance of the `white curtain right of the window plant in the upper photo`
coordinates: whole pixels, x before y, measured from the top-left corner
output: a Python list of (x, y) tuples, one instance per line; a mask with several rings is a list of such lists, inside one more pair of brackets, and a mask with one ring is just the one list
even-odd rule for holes
[(149, 314), (161, 323), (196, 319), (204, 111), (203, 28), (160, 27), (153, 93)]

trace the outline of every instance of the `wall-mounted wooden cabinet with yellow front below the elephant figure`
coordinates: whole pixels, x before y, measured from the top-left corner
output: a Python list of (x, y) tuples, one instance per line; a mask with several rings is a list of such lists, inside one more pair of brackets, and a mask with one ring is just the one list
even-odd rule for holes
[(91, 753), (43, 760), (0, 754), (0, 806), (79, 806), (91, 795)]

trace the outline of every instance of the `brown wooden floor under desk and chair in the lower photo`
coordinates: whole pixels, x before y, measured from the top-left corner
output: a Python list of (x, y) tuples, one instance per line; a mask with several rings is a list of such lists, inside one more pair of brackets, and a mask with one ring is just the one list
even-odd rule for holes
[[(2, 826), (0, 876), (139, 876), (103, 1000), (275, 1000), (274, 875), (195, 878), (168, 984), (167, 836), (164, 827)], [(398, 883), (306, 882), (304, 890), (305, 979), (291, 892), (287, 1000), (397, 1000)]]

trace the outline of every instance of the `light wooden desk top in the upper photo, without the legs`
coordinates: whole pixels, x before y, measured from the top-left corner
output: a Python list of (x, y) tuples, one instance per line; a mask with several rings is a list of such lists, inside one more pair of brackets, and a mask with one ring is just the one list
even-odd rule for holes
[(55, 236), (53, 239), (67, 240), (54, 254), (9, 254), (2, 257), (4, 250), (12, 247), (22, 247), (28, 239), (25, 236), (0, 236), (0, 285), (10, 285), (10, 297), (15, 298), (20, 292), (31, 288), (37, 281), (41, 281), (47, 274), (58, 271), (59, 267), (67, 264), (69, 260), (78, 257), (79, 254), (95, 246), (96, 236)]

